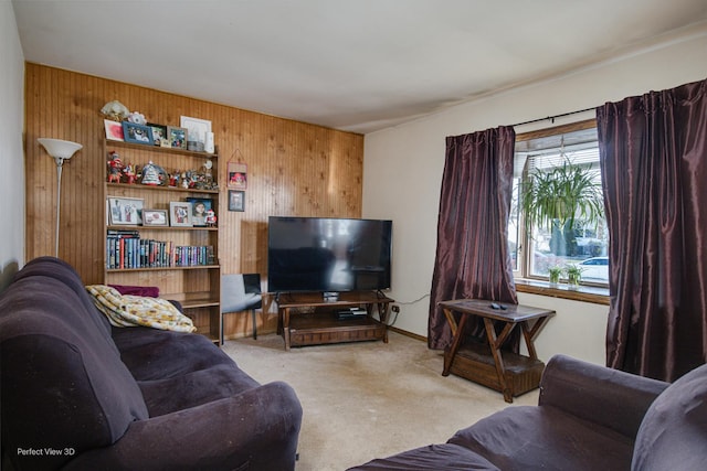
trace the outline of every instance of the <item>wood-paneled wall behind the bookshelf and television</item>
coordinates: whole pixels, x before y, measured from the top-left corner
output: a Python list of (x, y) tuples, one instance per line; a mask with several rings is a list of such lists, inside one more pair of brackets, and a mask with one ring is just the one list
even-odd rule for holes
[[(56, 167), (40, 137), (80, 142), (64, 164), (60, 257), (86, 283), (104, 281), (105, 136), (101, 108), (117, 99), (148, 121), (212, 122), (219, 151), (223, 274), (267, 269), (267, 216), (360, 217), (363, 137), (85, 74), (27, 64), (27, 259), (54, 255)], [(245, 212), (228, 211), (228, 162), (247, 164)], [(11, 223), (11, 222), (8, 222)]]

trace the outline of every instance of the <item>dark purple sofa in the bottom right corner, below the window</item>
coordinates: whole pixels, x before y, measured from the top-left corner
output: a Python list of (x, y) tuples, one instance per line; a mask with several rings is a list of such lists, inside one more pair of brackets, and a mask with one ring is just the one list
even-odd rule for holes
[(350, 470), (704, 469), (707, 365), (668, 385), (557, 355), (542, 375), (538, 406), (507, 407), (446, 443)]

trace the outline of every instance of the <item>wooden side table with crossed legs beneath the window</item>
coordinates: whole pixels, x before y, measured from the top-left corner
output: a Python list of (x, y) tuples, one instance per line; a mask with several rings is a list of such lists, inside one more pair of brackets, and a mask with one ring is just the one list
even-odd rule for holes
[[(538, 360), (534, 341), (547, 320), (555, 315), (548, 309), (531, 308), (520, 304), (496, 302), (506, 309), (494, 309), (492, 302), (483, 299), (456, 299), (442, 301), (440, 307), (444, 311), (446, 321), (452, 329), (452, 344), (444, 351), (443, 376), (454, 373), (457, 376), (490, 387), (504, 395), (506, 403), (540, 384), (540, 376), (545, 364)], [(453, 312), (458, 312), (458, 325)], [(478, 315), (484, 321), (488, 343), (464, 343), (462, 341), (464, 325), (469, 315)], [(494, 321), (504, 322), (502, 332), (497, 335)], [(532, 322), (530, 325), (530, 322)], [(510, 333), (520, 325), (523, 336), (528, 347), (529, 356), (503, 351), (503, 344)]]

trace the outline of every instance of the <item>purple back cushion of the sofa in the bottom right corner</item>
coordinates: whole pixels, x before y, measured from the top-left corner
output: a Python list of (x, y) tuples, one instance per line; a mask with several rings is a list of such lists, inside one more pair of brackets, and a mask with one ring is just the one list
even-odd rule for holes
[(707, 365), (677, 379), (653, 402), (639, 428), (631, 469), (707, 469)]

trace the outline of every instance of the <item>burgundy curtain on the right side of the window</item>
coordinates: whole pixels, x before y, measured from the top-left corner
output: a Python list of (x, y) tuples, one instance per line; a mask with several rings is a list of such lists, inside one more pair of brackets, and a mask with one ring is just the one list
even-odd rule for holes
[(610, 235), (606, 364), (668, 382), (707, 361), (706, 87), (597, 109)]

